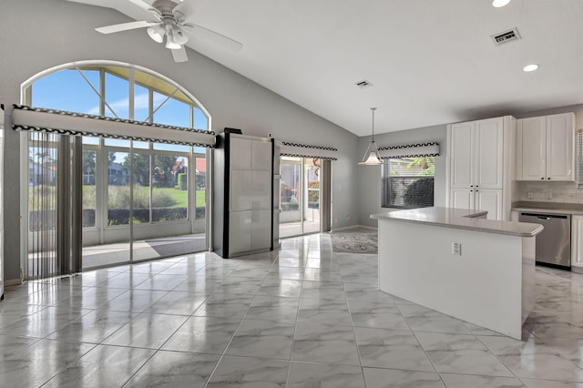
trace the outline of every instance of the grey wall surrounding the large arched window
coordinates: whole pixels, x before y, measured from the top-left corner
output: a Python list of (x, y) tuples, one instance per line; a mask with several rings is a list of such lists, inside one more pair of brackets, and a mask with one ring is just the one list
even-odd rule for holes
[[(358, 138), (352, 133), (195, 51), (188, 50), (189, 62), (175, 63), (169, 50), (143, 30), (98, 34), (97, 26), (130, 21), (117, 11), (64, 0), (4, 0), (2, 13), (0, 103), (20, 103), (23, 82), (66, 63), (97, 59), (147, 67), (197, 97), (216, 132), (241, 128), (247, 135), (271, 133), (276, 139), (338, 148), (338, 161), (332, 163), (332, 228), (355, 223), (350, 215), (357, 212)], [(13, 130), (5, 130), (5, 149), (5, 188), (12, 188), (5, 190), (5, 279), (10, 281), (20, 277), (20, 155)]]

